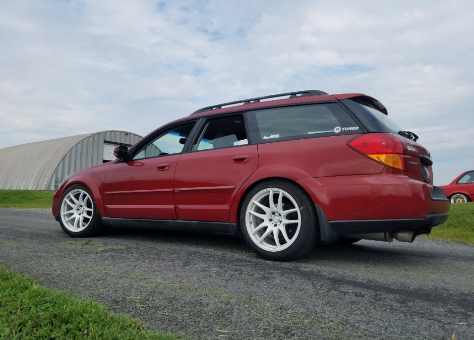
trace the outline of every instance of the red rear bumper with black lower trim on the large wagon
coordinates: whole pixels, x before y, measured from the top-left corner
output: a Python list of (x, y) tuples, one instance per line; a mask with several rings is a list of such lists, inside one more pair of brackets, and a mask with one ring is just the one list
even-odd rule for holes
[(443, 189), (406, 176), (341, 176), (299, 183), (314, 200), (324, 244), (354, 234), (430, 233), (449, 216)]

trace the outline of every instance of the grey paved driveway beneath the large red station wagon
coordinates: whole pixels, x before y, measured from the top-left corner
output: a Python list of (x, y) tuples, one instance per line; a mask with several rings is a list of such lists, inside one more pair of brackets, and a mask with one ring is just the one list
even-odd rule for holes
[(239, 239), (112, 229), (67, 236), (0, 208), (0, 265), (190, 339), (473, 339), (474, 247), (418, 238), (271, 262)]

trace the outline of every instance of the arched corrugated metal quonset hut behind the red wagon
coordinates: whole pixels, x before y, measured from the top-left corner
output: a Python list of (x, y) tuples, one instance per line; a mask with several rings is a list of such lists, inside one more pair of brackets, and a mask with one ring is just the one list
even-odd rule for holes
[(102, 131), (0, 149), (0, 189), (57, 190), (76, 171), (115, 159), (113, 149), (142, 136)]

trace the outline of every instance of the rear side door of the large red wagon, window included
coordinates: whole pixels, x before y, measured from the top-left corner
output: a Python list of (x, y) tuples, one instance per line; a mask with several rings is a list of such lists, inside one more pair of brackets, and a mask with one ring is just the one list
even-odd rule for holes
[(227, 222), (235, 195), (257, 169), (257, 145), (248, 144), (242, 114), (210, 118), (202, 126), (191, 152), (177, 162), (177, 218)]

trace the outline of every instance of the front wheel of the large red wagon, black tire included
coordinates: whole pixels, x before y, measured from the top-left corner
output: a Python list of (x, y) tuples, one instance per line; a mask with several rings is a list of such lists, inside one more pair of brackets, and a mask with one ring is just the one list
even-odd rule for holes
[(72, 237), (95, 236), (106, 229), (92, 195), (80, 184), (65, 190), (59, 201), (59, 214), (61, 228)]

